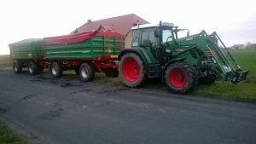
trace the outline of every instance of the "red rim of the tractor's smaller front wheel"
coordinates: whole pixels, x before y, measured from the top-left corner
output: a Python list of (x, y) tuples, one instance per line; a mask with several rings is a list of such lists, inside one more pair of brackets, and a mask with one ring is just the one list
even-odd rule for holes
[(181, 69), (174, 69), (171, 74), (171, 83), (177, 88), (182, 88), (187, 83), (187, 75)]

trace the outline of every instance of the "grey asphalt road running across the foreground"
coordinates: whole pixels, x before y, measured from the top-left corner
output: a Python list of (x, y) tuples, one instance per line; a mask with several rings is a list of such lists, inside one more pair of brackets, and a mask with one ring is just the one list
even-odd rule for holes
[(34, 143), (256, 143), (256, 105), (0, 70), (0, 118)]

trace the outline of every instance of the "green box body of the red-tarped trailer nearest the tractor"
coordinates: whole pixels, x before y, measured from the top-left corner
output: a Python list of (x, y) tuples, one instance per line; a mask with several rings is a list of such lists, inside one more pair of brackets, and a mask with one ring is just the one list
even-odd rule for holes
[(102, 58), (104, 55), (119, 55), (124, 45), (123, 38), (98, 36), (80, 43), (45, 44), (43, 54), (46, 59), (60, 58)]

